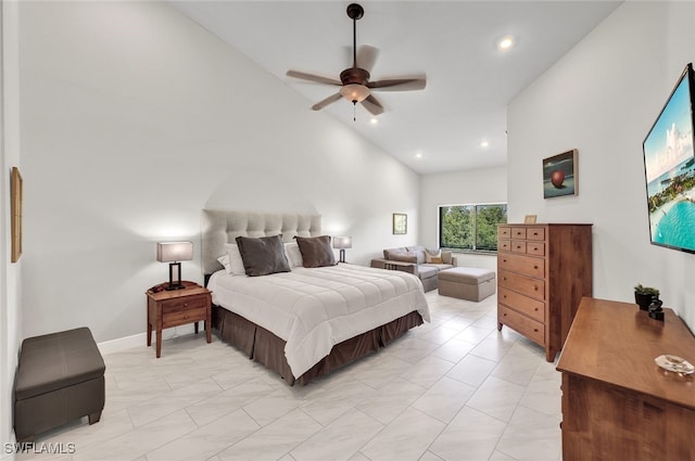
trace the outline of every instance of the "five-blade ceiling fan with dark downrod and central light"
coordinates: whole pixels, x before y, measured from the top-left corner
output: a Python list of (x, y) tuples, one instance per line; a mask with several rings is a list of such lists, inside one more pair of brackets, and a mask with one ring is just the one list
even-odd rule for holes
[(361, 103), (372, 115), (379, 115), (383, 113), (383, 105), (381, 105), (379, 100), (371, 94), (372, 90), (412, 91), (421, 90), (427, 85), (425, 76), (396, 77), (386, 80), (369, 81), (369, 72), (376, 62), (379, 51), (367, 44), (363, 44), (359, 47), (359, 50), (357, 50), (357, 20), (361, 20), (364, 14), (365, 11), (362, 5), (357, 3), (351, 3), (348, 5), (348, 16), (352, 20), (353, 26), (353, 64), (352, 67), (340, 73), (340, 80), (300, 71), (287, 72), (288, 77), (341, 87), (336, 94), (314, 104), (312, 106), (314, 111), (320, 111), (328, 104), (344, 98), (352, 102), (353, 105), (356, 106), (357, 103)]

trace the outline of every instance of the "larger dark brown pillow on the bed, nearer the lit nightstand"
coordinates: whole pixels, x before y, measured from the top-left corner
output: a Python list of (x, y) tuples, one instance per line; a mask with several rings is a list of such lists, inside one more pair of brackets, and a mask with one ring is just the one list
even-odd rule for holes
[(249, 277), (269, 276), (291, 270), (285, 256), (282, 235), (238, 236), (237, 245)]

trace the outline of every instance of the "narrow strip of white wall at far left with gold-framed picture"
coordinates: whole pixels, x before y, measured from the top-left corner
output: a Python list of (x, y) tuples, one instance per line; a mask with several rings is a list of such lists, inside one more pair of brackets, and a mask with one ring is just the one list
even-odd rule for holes
[[(0, 74), (0, 104), (2, 121), (0, 124), (0, 190), (10, 190), (10, 171), (20, 164), (20, 108), (18, 108), (18, 18), (17, 4), (3, 1), (0, 3), (0, 30), (2, 74)], [(22, 259), (10, 262), (12, 239), (10, 230), (10, 194), (0, 193), (0, 441), (14, 440), (12, 405), (14, 400), (14, 371), (17, 364), (17, 350), (22, 333), (21, 280)], [(0, 446), (0, 459), (12, 460), (14, 453), (5, 452)]]

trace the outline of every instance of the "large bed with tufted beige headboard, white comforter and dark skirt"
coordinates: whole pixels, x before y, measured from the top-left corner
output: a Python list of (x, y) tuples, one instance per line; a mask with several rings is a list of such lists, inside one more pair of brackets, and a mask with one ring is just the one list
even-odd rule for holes
[[(248, 277), (238, 265), (233, 268), (233, 256), (231, 264), (225, 258), (233, 255), (237, 238), (241, 245), (251, 242), (243, 238), (255, 238), (255, 244), (277, 241), (277, 235), (290, 270)], [(350, 264), (303, 267), (295, 236), (315, 243), (320, 235), (319, 215), (202, 214), (202, 267), (213, 292), (213, 329), (289, 385), (305, 385), (429, 321), (415, 276)]]

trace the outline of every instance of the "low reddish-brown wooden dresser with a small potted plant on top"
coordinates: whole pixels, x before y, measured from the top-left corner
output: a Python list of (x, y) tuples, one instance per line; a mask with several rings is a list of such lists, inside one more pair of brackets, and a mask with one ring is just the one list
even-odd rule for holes
[(635, 304), (582, 299), (557, 364), (564, 461), (695, 460), (695, 380), (654, 362), (695, 363), (695, 338), (664, 310), (660, 322)]

